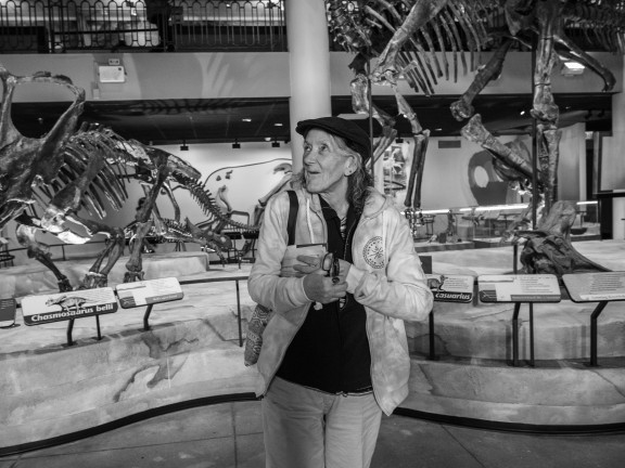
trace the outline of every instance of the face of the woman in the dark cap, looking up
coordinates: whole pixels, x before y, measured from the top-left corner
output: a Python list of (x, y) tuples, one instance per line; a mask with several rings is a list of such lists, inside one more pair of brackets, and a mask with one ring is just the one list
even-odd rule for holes
[(328, 132), (308, 131), (304, 140), (304, 177), (308, 192), (346, 195), (350, 165), (353, 157), (343, 155)]

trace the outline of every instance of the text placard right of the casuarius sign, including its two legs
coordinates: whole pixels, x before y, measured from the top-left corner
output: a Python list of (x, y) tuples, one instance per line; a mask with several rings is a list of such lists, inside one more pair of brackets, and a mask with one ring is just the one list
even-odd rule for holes
[(519, 366), (519, 312), (530, 308), (530, 365), (534, 367), (534, 303), (560, 302), (558, 277), (551, 274), (483, 275), (477, 278), (482, 302), (513, 302), (512, 366)]

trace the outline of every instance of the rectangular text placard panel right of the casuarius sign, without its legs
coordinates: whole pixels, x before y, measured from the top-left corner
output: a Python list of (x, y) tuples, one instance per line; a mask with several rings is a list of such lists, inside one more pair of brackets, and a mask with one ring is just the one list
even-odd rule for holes
[(482, 302), (560, 302), (558, 277), (551, 274), (483, 275), (477, 278)]

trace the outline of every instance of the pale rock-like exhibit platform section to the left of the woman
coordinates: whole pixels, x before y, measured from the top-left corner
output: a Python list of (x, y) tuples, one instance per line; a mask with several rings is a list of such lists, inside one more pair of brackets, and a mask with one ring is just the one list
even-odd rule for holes
[[(180, 402), (253, 392), (229, 280), (241, 274), (227, 265), (186, 276), (224, 281), (186, 285), (183, 299), (156, 304), (148, 332), (144, 307), (100, 316), (101, 340), (94, 317), (78, 318), (71, 347), (66, 322), (26, 326), (20, 313), (20, 326), (0, 330), (0, 454)], [(254, 303), (246, 284), (240, 289), (246, 317)]]

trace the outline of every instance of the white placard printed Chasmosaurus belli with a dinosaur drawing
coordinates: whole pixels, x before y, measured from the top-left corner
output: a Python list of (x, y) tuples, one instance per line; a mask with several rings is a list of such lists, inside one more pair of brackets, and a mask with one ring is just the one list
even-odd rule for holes
[(22, 314), (26, 325), (41, 325), (116, 311), (117, 300), (110, 287), (26, 296), (22, 299)]

